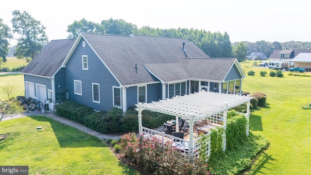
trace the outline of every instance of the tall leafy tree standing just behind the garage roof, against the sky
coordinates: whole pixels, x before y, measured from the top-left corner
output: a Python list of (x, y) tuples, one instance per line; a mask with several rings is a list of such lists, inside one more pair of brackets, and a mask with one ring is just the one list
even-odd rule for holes
[(14, 56), (30, 62), (49, 41), (45, 34), (46, 28), (26, 11), (21, 13), (19, 10), (14, 10), (12, 14), (13, 32), (19, 35)]

